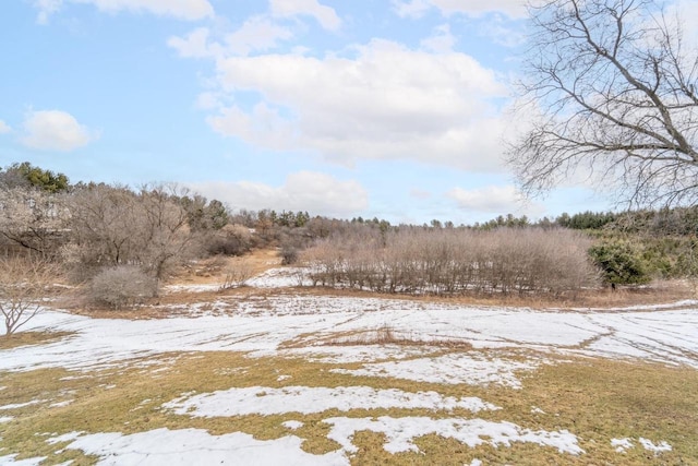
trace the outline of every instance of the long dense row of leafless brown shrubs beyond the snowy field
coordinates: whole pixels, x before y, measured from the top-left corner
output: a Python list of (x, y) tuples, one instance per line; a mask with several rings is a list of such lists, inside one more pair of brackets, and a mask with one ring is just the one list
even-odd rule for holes
[(557, 295), (595, 286), (590, 239), (553, 229), (357, 229), (303, 255), (314, 285), (381, 292)]

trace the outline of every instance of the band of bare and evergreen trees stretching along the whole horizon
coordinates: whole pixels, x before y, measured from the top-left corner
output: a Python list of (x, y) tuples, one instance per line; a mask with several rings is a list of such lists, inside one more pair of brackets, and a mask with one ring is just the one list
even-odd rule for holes
[[(0, 252), (58, 263), (77, 282), (101, 284), (101, 296), (115, 280), (147, 285), (131, 295), (156, 295), (177, 266), (263, 247), (278, 247), (285, 264), (304, 261), (318, 285), (556, 295), (598, 277), (641, 284), (698, 276), (697, 234), (698, 207), (392, 225), (305, 211), (233, 212), (176, 186), (71, 184), (28, 163), (0, 169)], [(137, 301), (131, 298), (109, 302)]]

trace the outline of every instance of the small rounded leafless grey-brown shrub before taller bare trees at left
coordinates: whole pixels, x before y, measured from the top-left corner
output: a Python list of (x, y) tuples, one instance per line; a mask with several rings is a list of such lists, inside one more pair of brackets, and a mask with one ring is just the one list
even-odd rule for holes
[(142, 303), (157, 292), (157, 280), (132, 265), (104, 268), (89, 285), (88, 298), (112, 309), (129, 308)]

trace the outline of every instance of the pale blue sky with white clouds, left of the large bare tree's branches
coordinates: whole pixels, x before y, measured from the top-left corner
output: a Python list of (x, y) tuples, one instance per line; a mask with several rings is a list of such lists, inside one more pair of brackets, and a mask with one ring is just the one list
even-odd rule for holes
[(7, 0), (0, 166), (394, 224), (611, 208), (571, 183), (517, 193), (504, 141), (526, 15), (522, 0)]

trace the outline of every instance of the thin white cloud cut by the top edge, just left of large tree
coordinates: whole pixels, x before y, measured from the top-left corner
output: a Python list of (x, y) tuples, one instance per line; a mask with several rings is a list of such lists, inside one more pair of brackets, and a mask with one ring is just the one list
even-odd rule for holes
[(393, 7), (401, 17), (420, 17), (430, 8), (438, 9), (446, 16), (460, 13), (477, 17), (497, 12), (515, 19), (526, 16), (524, 0), (393, 0)]

